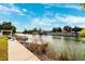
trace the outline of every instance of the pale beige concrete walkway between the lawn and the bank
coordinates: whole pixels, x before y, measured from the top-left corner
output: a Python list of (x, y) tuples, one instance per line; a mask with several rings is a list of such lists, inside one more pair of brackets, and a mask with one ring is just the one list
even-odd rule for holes
[(9, 40), (9, 61), (40, 61), (16, 40)]

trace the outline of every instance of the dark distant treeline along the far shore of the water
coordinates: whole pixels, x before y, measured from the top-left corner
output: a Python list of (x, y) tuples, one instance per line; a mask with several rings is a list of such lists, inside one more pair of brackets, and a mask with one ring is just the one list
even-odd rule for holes
[(61, 28), (61, 27), (53, 27), (52, 30), (43, 30), (41, 28), (40, 29), (33, 28), (31, 30), (25, 29), (23, 31), (23, 34), (33, 34), (33, 33), (41, 34), (41, 33), (46, 33), (46, 31), (51, 31), (51, 33), (74, 33), (74, 34), (77, 34), (77, 31), (81, 31), (82, 29), (83, 28), (77, 27), (77, 26), (74, 26), (74, 27), (63, 26), (63, 28)]

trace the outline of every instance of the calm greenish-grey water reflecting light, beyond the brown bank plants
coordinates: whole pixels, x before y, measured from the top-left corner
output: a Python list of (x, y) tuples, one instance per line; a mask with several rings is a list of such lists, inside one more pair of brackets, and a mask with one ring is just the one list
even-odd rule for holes
[(48, 43), (48, 51), (65, 54), (69, 59), (85, 60), (85, 37), (33, 36)]

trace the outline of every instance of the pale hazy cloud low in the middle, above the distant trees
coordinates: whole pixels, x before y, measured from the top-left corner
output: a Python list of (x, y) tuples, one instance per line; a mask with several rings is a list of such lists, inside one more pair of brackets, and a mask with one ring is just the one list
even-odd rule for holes
[(51, 30), (53, 27), (62, 27), (59, 24), (56, 24), (56, 18), (33, 18), (29, 25), (29, 29), (32, 28), (42, 28)]

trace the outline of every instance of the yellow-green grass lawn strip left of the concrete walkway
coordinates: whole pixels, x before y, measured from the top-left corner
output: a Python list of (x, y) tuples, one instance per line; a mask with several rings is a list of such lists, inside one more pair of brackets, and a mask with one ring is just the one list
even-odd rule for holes
[(0, 61), (8, 60), (8, 38), (6, 36), (0, 37)]

